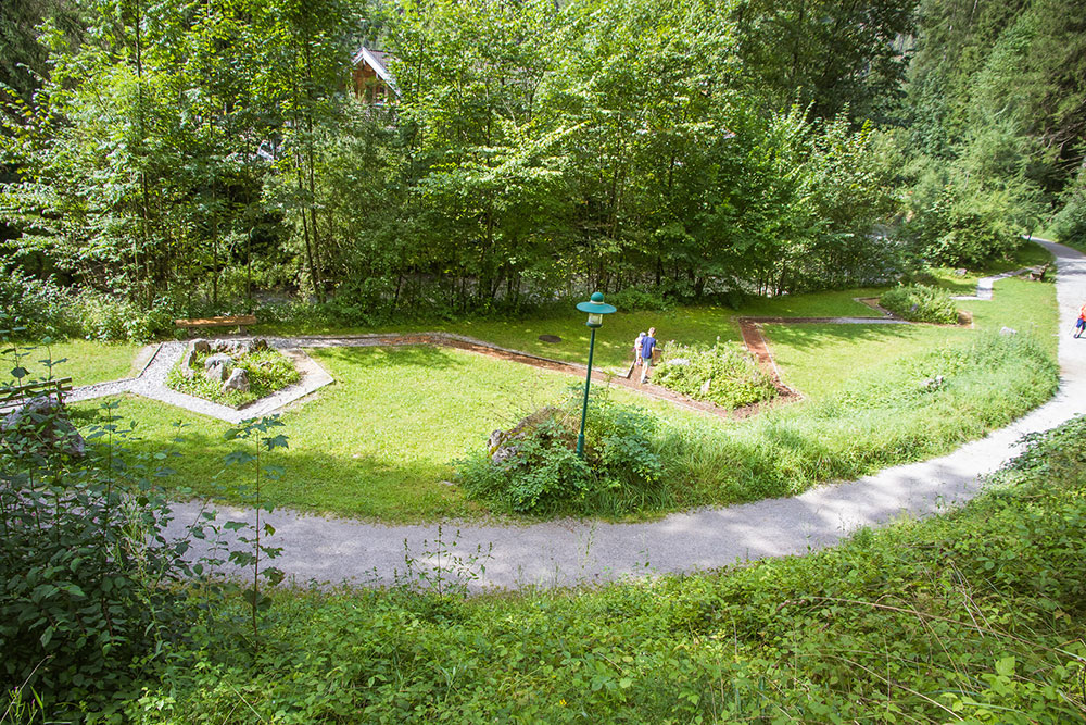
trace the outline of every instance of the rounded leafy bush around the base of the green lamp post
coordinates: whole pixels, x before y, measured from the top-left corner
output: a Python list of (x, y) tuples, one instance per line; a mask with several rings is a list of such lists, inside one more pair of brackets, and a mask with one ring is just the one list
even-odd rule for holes
[(534, 515), (622, 515), (659, 504), (666, 487), (656, 451), (656, 418), (595, 393), (577, 455), (580, 398), (526, 417), (485, 454), (459, 462), (457, 479), (472, 498)]

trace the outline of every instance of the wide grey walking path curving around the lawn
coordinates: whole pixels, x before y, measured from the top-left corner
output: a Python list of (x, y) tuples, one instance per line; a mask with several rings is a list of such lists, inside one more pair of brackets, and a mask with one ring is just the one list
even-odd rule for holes
[[(980, 490), (984, 476), (1018, 452), (1024, 434), (1045, 430), (1081, 413), (1086, 401), (1086, 340), (1070, 330), (1086, 299), (1086, 258), (1044, 242), (1057, 257), (1060, 307), (1060, 389), (1051, 401), (982, 440), (949, 455), (888, 468), (859, 480), (774, 499), (704, 509), (642, 524), (557, 521), (526, 526), (442, 526), (444, 546), (434, 543), (438, 526), (384, 526), (278, 511), (276, 565), (299, 580), (390, 582), (404, 571), (406, 549), (419, 562), (452, 552), (466, 560), (489, 552), (472, 586), (563, 586), (664, 572), (719, 567), (747, 559), (803, 554), (839, 541), (860, 526), (879, 525), (904, 514), (927, 515), (963, 503)], [(199, 505), (176, 507), (175, 533), (194, 522)], [(222, 516), (244, 517), (225, 509)], [(458, 529), (458, 534), (457, 534)], [(455, 545), (453, 543), (455, 541)], [(195, 545), (205, 546), (202, 541)], [(450, 566), (447, 555), (444, 565)], [(478, 571), (478, 570), (477, 570)]]

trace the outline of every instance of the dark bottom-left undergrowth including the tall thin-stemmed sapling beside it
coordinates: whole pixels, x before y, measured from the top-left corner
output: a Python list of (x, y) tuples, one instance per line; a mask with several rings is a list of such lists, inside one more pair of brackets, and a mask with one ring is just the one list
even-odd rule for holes
[[(157, 482), (174, 473), (169, 463), (179, 453), (134, 445), (135, 428), (122, 420), (119, 401), (102, 403), (97, 414), (26, 405), (30, 380), (23, 363), (35, 350), (0, 350), (12, 363), (0, 399), (14, 398), (0, 415), (0, 721), (13, 713), (109, 718), (136, 695), (137, 683), (171, 643), (191, 636), (200, 611), (218, 608), (223, 597), (241, 589), (255, 629), (256, 612), (269, 600), (256, 578), (245, 588), (212, 576), (222, 563), (215, 553), (188, 557), (191, 538), (214, 528), (214, 511), (188, 536), (167, 538), (172, 512)], [(51, 376), (62, 361), (41, 362)], [(274, 529), (261, 526), (261, 511), (270, 509), (261, 505), (260, 485), (262, 474), (280, 470), (265, 467), (260, 450), (286, 446), (285, 437), (266, 435), (276, 425), (265, 420), (232, 432), (256, 441), (255, 452), (229, 459), (254, 466), (256, 524), (224, 526), (241, 532), (237, 541), (244, 547), (226, 557), (272, 583), (282, 575), (260, 568), (262, 554), (266, 560), (278, 553), (267, 545)]]

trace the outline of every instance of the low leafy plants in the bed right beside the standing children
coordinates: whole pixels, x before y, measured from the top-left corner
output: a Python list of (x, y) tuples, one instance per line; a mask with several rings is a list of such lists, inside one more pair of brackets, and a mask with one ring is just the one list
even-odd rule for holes
[[(773, 380), (737, 342), (712, 347), (668, 342), (653, 382), (696, 400), (734, 409), (776, 395)], [(708, 383), (708, 390), (704, 386)]]

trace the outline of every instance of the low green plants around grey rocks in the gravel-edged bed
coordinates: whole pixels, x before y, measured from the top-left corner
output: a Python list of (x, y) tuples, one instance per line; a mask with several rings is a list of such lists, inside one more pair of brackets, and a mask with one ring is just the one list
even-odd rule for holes
[(202, 374), (204, 361), (212, 354), (215, 353), (193, 351), (190, 368), (195, 374), (191, 377), (186, 377), (181, 370), (186, 360), (184, 358), (179, 360), (166, 374), (166, 387), (225, 405), (241, 408), (302, 379), (289, 358), (278, 350), (265, 347), (231, 355), (233, 366), (248, 374), (249, 390), (223, 390), (222, 380), (214, 380)]

